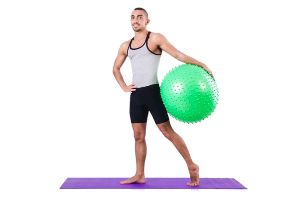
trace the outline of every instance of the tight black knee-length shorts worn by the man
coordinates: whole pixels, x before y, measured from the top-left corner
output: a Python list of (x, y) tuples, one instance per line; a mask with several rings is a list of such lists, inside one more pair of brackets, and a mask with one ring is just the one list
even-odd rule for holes
[(136, 88), (130, 96), (131, 123), (146, 123), (149, 112), (155, 122), (160, 124), (169, 120), (163, 104), (159, 84)]

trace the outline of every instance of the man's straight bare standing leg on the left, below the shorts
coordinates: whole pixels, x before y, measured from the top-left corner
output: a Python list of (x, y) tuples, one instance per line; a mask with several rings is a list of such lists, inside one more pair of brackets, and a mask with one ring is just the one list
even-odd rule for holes
[(136, 174), (120, 184), (146, 183), (145, 162), (147, 157), (146, 127), (147, 123), (132, 124), (135, 138)]

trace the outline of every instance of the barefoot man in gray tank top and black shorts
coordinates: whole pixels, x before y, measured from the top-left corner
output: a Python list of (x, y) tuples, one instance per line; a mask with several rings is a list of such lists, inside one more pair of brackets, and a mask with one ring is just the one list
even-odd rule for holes
[[(157, 80), (157, 69), (162, 51), (170, 54), (177, 60), (199, 65), (209, 72), (211, 70), (203, 63), (183, 54), (172, 46), (160, 33), (147, 30), (149, 24), (148, 12), (135, 8), (131, 15), (131, 25), (135, 36), (121, 44), (113, 66), (113, 74), (125, 92), (130, 92), (130, 118), (135, 138), (135, 155), (137, 170), (134, 177), (120, 182), (120, 184), (146, 183), (145, 160), (147, 155), (146, 126), (149, 112), (162, 134), (173, 143), (185, 160), (189, 173), (189, 186), (198, 186), (199, 167), (192, 161), (183, 139), (172, 129), (168, 114), (160, 96), (160, 87)], [(121, 74), (121, 66), (127, 56), (131, 59), (133, 83), (127, 85)]]

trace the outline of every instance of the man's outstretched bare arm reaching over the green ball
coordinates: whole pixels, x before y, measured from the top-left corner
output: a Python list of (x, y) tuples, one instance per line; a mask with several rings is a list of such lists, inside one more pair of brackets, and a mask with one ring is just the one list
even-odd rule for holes
[[(186, 63), (186, 64), (193, 64), (202, 67), (204, 70), (206, 70), (209, 74), (213, 76), (212, 71), (207, 67), (206, 64), (199, 62), (198, 60), (182, 53), (181, 51), (177, 50), (167, 39), (164, 35), (160, 33), (155, 33), (155, 41), (157, 45), (166, 53), (174, 57), (175, 59)], [(215, 80), (215, 78), (214, 78)]]

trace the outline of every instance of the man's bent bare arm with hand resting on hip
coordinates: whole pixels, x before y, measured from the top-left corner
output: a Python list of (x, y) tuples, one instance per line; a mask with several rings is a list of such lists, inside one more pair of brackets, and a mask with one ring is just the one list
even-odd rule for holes
[(126, 41), (124, 43), (121, 44), (117, 57), (114, 61), (114, 65), (113, 65), (113, 75), (115, 77), (115, 79), (117, 80), (117, 82), (119, 83), (119, 85), (121, 86), (121, 88), (125, 91), (125, 92), (131, 92), (135, 91), (133, 88), (135, 88), (135, 84), (131, 84), (129, 86), (126, 85), (123, 75), (121, 74), (121, 67), (123, 66), (126, 58), (127, 58), (127, 49), (129, 46), (129, 41)]

